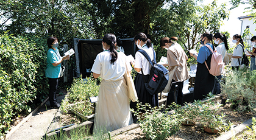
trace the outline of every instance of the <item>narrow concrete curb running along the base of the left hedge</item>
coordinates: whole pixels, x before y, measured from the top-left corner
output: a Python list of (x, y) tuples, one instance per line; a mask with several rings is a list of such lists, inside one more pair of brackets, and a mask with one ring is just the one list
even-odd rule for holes
[(12, 128), (9, 133), (7, 133), (4, 137), (4, 140), (9, 138), (16, 130), (18, 130), (18, 128), (21, 127), (21, 125), (23, 125), (27, 120), (29, 120), (29, 118), (34, 115), (35, 113), (37, 113), (37, 110), (39, 110), (39, 108), (47, 102), (47, 100), (49, 99), (49, 97), (47, 97), (37, 108), (35, 108), (34, 111), (32, 111), (32, 113), (30, 113), (27, 117), (25, 117), (23, 119), (23, 121), (21, 121), (18, 125), (16, 125), (14, 128)]

